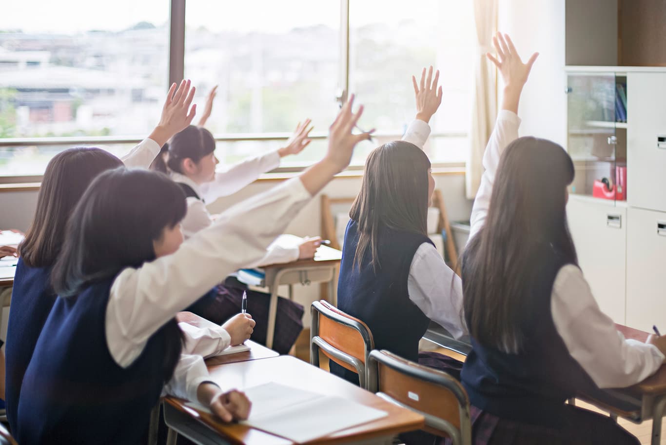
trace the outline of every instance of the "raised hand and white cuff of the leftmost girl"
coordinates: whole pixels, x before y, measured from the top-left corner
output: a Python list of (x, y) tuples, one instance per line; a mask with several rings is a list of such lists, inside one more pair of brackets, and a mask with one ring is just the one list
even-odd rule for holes
[(194, 87), (190, 88), (190, 81), (180, 82), (177, 90), (175, 83), (171, 85), (166, 94), (165, 105), (162, 107), (162, 115), (157, 127), (153, 129), (149, 137), (121, 158), (125, 167), (147, 169), (151, 165), (166, 141), (190, 125), (194, 119), (196, 105), (192, 105), (190, 109), (193, 98)]

